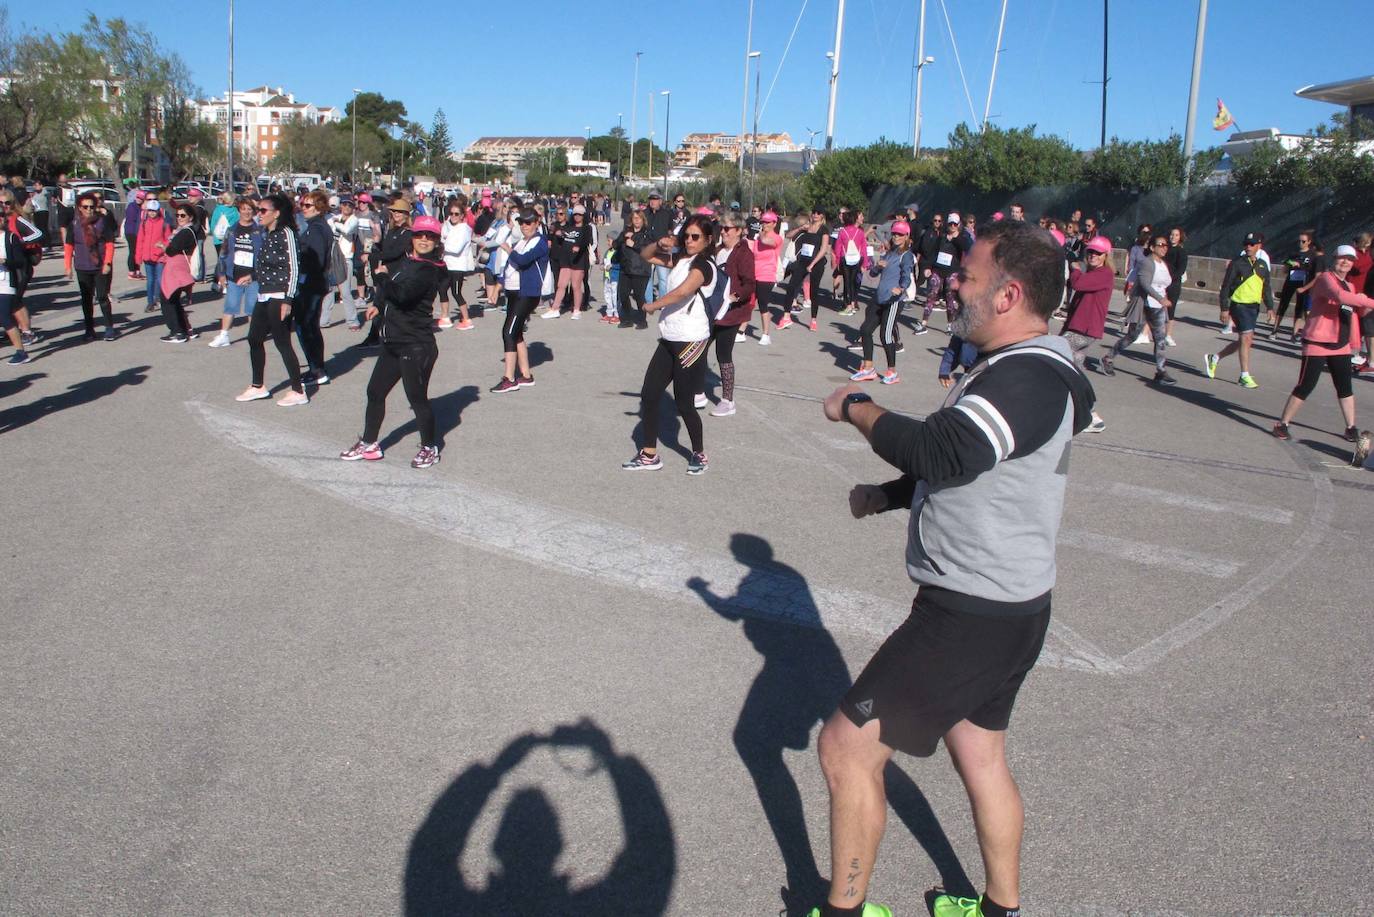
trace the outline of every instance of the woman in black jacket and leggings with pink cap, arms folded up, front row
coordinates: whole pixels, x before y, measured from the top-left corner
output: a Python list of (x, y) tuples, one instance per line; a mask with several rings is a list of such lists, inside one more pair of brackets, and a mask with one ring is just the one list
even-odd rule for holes
[(381, 302), (381, 308), (376, 302), (367, 307), (367, 318), (381, 320), (382, 353), (367, 382), (363, 434), (349, 450), (339, 452), (345, 462), (375, 462), (382, 458), (376, 437), (386, 415), (386, 396), (397, 382), (405, 388), (405, 397), (415, 411), (415, 423), (420, 432), (420, 451), (411, 459), (411, 467), (429, 467), (438, 462), (429, 381), (438, 360), (431, 304), (440, 285), (448, 279), (444, 258), (438, 253), (441, 232), (442, 227), (434, 217), (416, 219), (411, 228), (411, 253), (393, 263), (378, 282), (376, 302)]

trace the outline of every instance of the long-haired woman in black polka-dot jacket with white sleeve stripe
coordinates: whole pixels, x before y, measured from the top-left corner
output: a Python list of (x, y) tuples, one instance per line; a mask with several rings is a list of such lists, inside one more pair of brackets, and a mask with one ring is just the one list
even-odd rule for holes
[(257, 206), (258, 221), (262, 224), (262, 247), (253, 265), (258, 282), (258, 301), (249, 319), (249, 362), (253, 367), (253, 381), (235, 401), (257, 401), (269, 397), (264, 384), (267, 371), (268, 334), (276, 344), (286, 374), (291, 379), (291, 390), (278, 400), (280, 407), (309, 404), (305, 385), (301, 384), (301, 362), (295, 359), (291, 346), (291, 300), (300, 280), (301, 263), (295, 253), (294, 208), (284, 194), (269, 194)]

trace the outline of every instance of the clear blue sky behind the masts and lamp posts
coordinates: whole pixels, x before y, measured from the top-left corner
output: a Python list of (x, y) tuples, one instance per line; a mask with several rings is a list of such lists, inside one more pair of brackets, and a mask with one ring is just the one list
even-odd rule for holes
[[(801, 12), (798, 23), (798, 12)], [(763, 52), (767, 107), (760, 131), (787, 131), (805, 143), (826, 121), (835, 0), (756, 0), (754, 48)], [(981, 118), (988, 93), (1000, 0), (945, 0)], [(835, 118), (838, 146), (879, 136), (911, 140), (911, 74), (918, 0), (848, 0)], [(227, 0), (179, 4), (151, 0), (47, 0), (12, 8), (18, 25), (77, 27), (88, 10), (153, 27), (191, 65), (207, 93), (227, 84)], [(459, 11), (477, 8), (470, 16)], [(481, 135), (605, 133), (624, 114), (631, 126), (635, 51), (638, 133), (647, 133), (650, 92), (672, 91), (672, 140), (688, 131), (739, 131), (747, 0), (664, 5), (519, 0), (492, 4), (378, 4), (375, 0), (236, 0), (239, 88), (282, 85), (298, 99), (342, 106), (352, 87), (403, 100), (429, 125), (437, 107), (455, 144)], [(409, 10), (409, 11), (407, 11)], [(419, 12), (419, 11), (425, 12)], [(440, 12), (442, 10), (442, 12)], [(510, 15), (493, 14), (493, 10)], [(1298, 87), (1369, 71), (1367, 30), (1331, 27), (1349, 4), (1312, 0), (1301, 16), (1287, 3), (1213, 0), (1198, 99), (1197, 144), (1212, 131), (1216, 99), (1245, 129), (1301, 132), (1336, 106), (1298, 99)], [(1279, 16), (1283, 16), (1282, 19)], [(394, 26), (379, 26), (397, 23)], [(1183, 132), (1197, 0), (1112, 3), (1107, 136), (1162, 137)], [(1249, 23), (1241, 32), (1237, 25)], [(1278, 30), (1282, 22), (1282, 33)], [(796, 37), (787, 48), (796, 25)], [(1281, 41), (1282, 38), (1282, 41)], [(1102, 5), (1095, 0), (1010, 0), (992, 99), (993, 124), (1037, 124), (1074, 146), (1094, 147), (1101, 118)], [(521, 48), (497, 63), (497, 48)], [(1312, 52), (1320, 48), (1320, 52)], [(783, 52), (786, 49), (786, 60)], [(308, 54), (313, 56), (308, 56)], [(923, 146), (943, 146), (960, 120), (971, 121), (940, 0), (926, 3)], [(780, 66), (780, 71), (779, 71)], [(769, 95), (769, 87), (776, 85)], [(750, 77), (750, 118), (753, 77)], [(655, 139), (664, 99), (655, 96)], [(818, 135), (820, 146), (824, 135)]]

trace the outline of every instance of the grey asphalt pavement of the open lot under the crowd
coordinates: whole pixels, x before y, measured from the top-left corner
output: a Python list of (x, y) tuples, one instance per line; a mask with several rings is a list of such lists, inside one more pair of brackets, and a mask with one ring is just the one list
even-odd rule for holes
[[(848, 513), (888, 469), (820, 414), (855, 319), (756, 323), (690, 477), (672, 411), (664, 470), (618, 467), (653, 331), (533, 319), (537, 384), (497, 396), (477, 311), (440, 335), (419, 472), (400, 386), (385, 461), (335, 458), (372, 362), (342, 324), (309, 406), (238, 404), (246, 329), (206, 346), (206, 287), (169, 345), (121, 271), (120, 340), (84, 342), (59, 275), (0, 366), (5, 913), (776, 914), (829, 874), (816, 731), (914, 593), (905, 514)], [(938, 407), (933, 324), (879, 403)], [(1180, 384), (1134, 348), (1074, 443), (1010, 733), (1025, 913), (1369, 913), (1374, 476), (1326, 381), (1270, 436), (1293, 346), (1246, 390), (1234, 357), (1201, 374), (1210, 307), (1175, 337)], [(944, 753), (889, 786), (872, 899), (981, 887)]]

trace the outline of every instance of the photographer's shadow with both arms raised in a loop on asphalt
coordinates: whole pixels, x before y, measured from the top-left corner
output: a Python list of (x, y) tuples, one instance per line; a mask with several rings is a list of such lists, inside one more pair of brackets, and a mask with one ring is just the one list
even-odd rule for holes
[[(502, 813), (491, 848), (496, 869), (485, 887), (473, 885), (460, 872), (469, 836), (506, 775), (537, 748), (555, 755), (585, 749), (592, 756), (583, 775), (610, 780), (625, 846), (599, 881), (573, 888), (572, 876), (554, 872), (563, 850), (558, 813), (543, 789), (529, 786)], [(496, 760), (473, 764), (434, 800), (405, 858), (405, 914), (657, 917), (668, 907), (676, 872), (672, 822), (658, 784), (639, 759), (617, 753), (610, 736), (583, 719), (517, 737)]]

